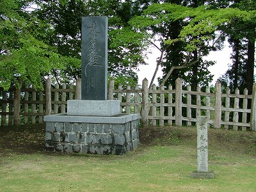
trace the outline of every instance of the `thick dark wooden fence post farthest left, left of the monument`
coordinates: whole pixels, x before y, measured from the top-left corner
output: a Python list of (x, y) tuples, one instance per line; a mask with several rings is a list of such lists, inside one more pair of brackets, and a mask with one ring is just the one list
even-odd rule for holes
[(19, 80), (19, 87), (15, 88), (14, 98), (13, 98), (13, 118), (14, 125), (20, 124), (20, 87), (22, 86), (22, 81)]

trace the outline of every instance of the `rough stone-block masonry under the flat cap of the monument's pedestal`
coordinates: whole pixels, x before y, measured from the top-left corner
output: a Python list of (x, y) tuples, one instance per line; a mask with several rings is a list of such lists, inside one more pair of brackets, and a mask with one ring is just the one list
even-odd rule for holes
[[(127, 118), (125, 118), (127, 119)], [(138, 147), (138, 120), (124, 124), (46, 122), (45, 150), (83, 154), (122, 155)], [(63, 124), (65, 129), (52, 127)], [(131, 126), (132, 124), (132, 126)]]

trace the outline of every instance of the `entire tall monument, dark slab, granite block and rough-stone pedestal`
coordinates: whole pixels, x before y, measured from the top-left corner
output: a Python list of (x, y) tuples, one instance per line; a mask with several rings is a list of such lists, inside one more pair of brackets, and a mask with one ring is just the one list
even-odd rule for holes
[(82, 18), (82, 100), (44, 116), (45, 150), (120, 155), (138, 147), (140, 115), (120, 114), (120, 101), (107, 100), (107, 40), (107, 17)]

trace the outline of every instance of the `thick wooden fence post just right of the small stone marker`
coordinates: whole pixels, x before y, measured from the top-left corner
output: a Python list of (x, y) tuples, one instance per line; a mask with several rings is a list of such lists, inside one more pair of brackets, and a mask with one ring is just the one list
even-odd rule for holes
[(214, 107), (214, 123), (213, 127), (221, 128), (221, 83), (215, 84), (215, 107)]

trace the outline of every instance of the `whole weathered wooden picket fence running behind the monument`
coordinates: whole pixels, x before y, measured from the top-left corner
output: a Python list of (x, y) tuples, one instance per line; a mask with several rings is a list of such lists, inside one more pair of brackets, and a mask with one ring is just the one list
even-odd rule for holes
[[(120, 100), (120, 113), (140, 113), (143, 127), (148, 125), (194, 125), (196, 117), (207, 116), (209, 126), (220, 129), (254, 130), (256, 124), (256, 99), (253, 86), (253, 94), (248, 95), (243, 90), (243, 95), (236, 89), (236, 93), (230, 94), (228, 88), (221, 88), (216, 83), (214, 88), (205, 88), (205, 92), (198, 87), (191, 91), (191, 86), (182, 89), (180, 79), (173, 86), (148, 89), (147, 79), (143, 80), (142, 87), (134, 89), (122, 85), (114, 88), (114, 82), (109, 82), (108, 99)], [(212, 90), (212, 91), (211, 91)], [(222, 93), (221, 92), (224, 92)], [(58, 84), (51, 86), (51, 80), (47, 79), (44, 91), (36, 91), (33, 88), (15, 89), (8, 92), (0, 90), (1, 125), (35, 124), (42, 123), (44, 115), (65, 113), (68, 99), (81, 99), (81, 80), (73, 84)], [(248, 108), (250, 106), (250, 108)], [(8, 122), (8, 123), (7, 123)]]

